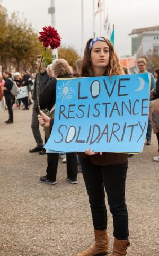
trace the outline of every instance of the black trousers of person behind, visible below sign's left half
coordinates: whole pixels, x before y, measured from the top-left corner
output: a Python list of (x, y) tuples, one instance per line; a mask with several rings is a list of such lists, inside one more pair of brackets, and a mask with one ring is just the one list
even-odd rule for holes
[[(76, 153), (66, 153), (67, 177), (71, 180), (77, 179), (77, 156)], [(56, 181), (59, 153), (47, 154), (47, 179)]]

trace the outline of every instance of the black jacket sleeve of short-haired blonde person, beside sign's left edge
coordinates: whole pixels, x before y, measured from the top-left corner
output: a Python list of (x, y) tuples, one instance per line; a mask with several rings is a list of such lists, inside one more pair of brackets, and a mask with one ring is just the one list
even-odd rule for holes
[(52, 103), (55, 104), (56, 100), (56, 78), (53, 78), (48, 82), (45, 89), (39, 95), (40, 108), (45, 109), (47, 106)]

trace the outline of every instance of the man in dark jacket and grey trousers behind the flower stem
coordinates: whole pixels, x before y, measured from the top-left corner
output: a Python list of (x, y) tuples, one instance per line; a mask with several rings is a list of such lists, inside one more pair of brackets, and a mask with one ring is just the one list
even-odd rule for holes
[[(37, 61), (36, 61), (37, 69), (39, 69), (40, 63), (41, 63), (41, 56), (38, 56)], [(43, 140), (42, 140), (41, 133), (39, 130), (39, 122), (38, 122), (38, 118), (37, 118), (37, 116), (39, 114), (38, 102), (37, 102), (37, 91), (36, 91), (37, 79), (38, 79), (38, 73), (36, 74), (36, 78), (34, 81), (34, 90), (33, 90), (33, 95), (32, 95), (34, 104), (33, 104), (33, 109), (32, 109), (32, 121), (31, 121), (31, 128), (32, 128), (33, 136), (34, 136), (34, 139), (36, 140), (37, 145), (33, 149), (29, 149), (30, 153), (45, 151), (45, 149), (43, 148)], [(43, 67), (40, 70), (39, 93), (42, 93), (48, 80), (49, 80), (49, 76), (46, 72), (46, 67)]]

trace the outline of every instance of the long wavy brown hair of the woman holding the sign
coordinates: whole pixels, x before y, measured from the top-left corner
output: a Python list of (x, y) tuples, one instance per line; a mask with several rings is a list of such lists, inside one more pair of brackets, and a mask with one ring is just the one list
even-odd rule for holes
[[(108, 66), (105, 67), (105, 72), (103, 75), (107, 75), (107, 76), (123, 75), (124, 74), (123, 69), (119, 63), (119, 58), (116, 52), (114, 51), (114, 47), (112, 43), (109, 41), (109, 39), (104, 37), (102, 38), (105, 40), (105, 42), (109, 46), (109, 54), (110, 54), (109, 63), (108, 63)], [(87, 41), (87, 44), (84, 50), (84, 57), (82, 60), (82, 68), (81, 68), (82, 77), (94, 76), (94, 72), (93, 72), (91, 60), (90, 60), (91, 51), (89, 51), (89, 45), (91, 40), (92, 38), (90, 38), (89, 41)]]

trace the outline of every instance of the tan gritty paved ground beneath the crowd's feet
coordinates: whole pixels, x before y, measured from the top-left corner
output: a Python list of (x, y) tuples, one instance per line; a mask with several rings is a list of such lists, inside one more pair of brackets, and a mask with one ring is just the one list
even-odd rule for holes
[[(0, 255), (75, 256), (93, 244), (93, 227), (82, 174), (78, 185), (66, 180), (60, 163), (56, 186), (39, 182), (45, 174), (46, 155), (29, 153), (35, 146), (30, 128), (31, 110), (0, 113)], [(129, 211), (131, 256), (158, 256), (159, 163), (156, 137), (142, 154), (129, 159), (126, 199)], [(108, 209), (112, 250), (112, 218)]]

